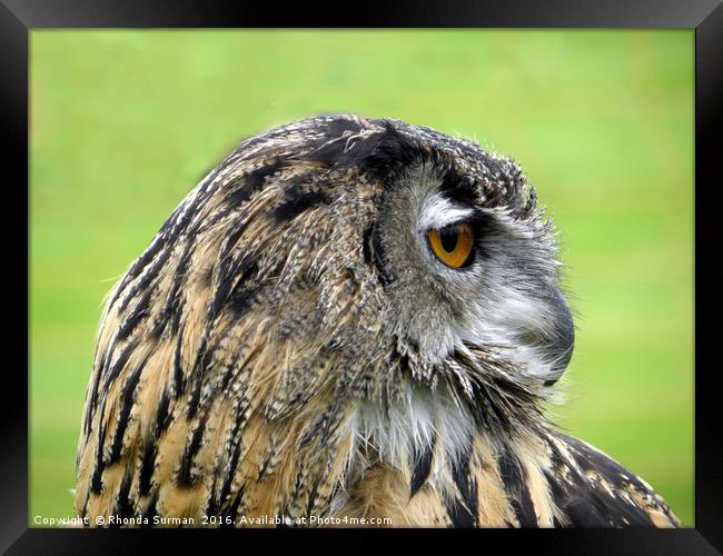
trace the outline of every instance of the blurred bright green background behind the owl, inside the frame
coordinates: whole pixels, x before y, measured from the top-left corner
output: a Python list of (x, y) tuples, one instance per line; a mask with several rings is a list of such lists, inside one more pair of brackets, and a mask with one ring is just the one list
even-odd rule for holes
[(693, 53), (692, 30), (32, 31), (30, 516), (72, 514), (113, 281), (240, 138), (356, 111), (522, 163), (577, 312), (556, 420), (692, 526)]

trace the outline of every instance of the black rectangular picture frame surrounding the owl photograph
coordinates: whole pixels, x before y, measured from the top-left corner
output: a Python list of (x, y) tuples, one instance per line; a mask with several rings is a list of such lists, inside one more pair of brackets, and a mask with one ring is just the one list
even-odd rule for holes
[[(345, 13), (349, 13), (348, 16)], [(695, 29), (695, 528), (660, 529), (580, 529), (580, 530), (481, 530), (481, 532), (414, 532), (423, 542), (430, 535), (482, 535), (472, 538), (477, 549), (485, 550), (492, 537), (513, 552), (519, 545), (532, 545), (535, 553), (555, 554), (585, 552), (586, 554), (717, 554), (723, 550), (723, 456), (721, 454), (721, 396), (715, 388), (719, 365), (713, 364), (716, 349), (714, 325), (715, 304), (697, 302), (715, 299), (720, 286), (717, 274), (706, 269), (705, 247), (715, 245), (720, 237), (714, 229), (714, 211), (720, 206), (721, 187), (714, 181), (720, 150), (715, 133), (721, 129), (723, 101), (723, 6), (721, 0), (516, 0), (514, 2), (482, 3), (472, 1), (436, 2), (373, 2), (354, 6), (337, 4), (335, 9), (314, 12), (308, 6), (280, 8), (259, 3), (220, 2), (206, 0), (156, 0), (141, 2), (92, 0), (0, 0), (0, 138), (3, 142), (2, 165), (6, 208), (20, 211), (24, 202), (30, 218), (28, 191), (28, 93), (29, 93), (29, 31), (40, 28), (247, 28), (247, 27), (473, 27), (473, 28), (689, 28)], [(12, 176), (12, 178), (10, 178)], [(28, 186), (27, 186), (28, 187)], [(9, 192), (17, 192), (18, 200)], [(18, 208), (16, 207), (18, 202)], [(12, 207), (12, 208), (11, 208)], [(14, 225), (6, 221), (6, 234)], [(28, 228), (26, 228), (28, 229)], [(7, 236), (9, 237), (9, 236)], [(11, 242), (19, 244), (12, 232)], [(712, 238), (712, 240), (710, 239)], [(28, 256), (29, 242), (26, 245)], [(713, 251), (715, 252), (715, 250)], [(687, 264), (687, 261), (672, 261)], [(6, 276), (16, 280), (14, 287), (28, 292), (28, 264), (6, 264)], [(8, 297), (19, 298), (13, 290)], [(20, 308), (18, 309), (18, 311)], [(20, 312), (17, 312), (18, 315)], [(6, 320), (9, 322), (9, 320)], [(13, 332), (20, 336), (21, 326), (12, 320)], [(711, 322), (709, 326), (707, 322)], [(26, 341), (29, 342), (26, 327)], [(9, 331), (10, 332), (10, 331)], [(20, 345), (8, 339), (11, 346)], [(29, 351), (29, 350), (28, 350)], [(27, 353), (28, 353), (27, 351)], [(704, 363), (705, 361), (705, 363)], [(710, 361), (710, 363), (707, 363)], [(148, 545), (148, 532), (69, 530), (28, 528), (28, 381), (21, 366), (6, 363), (2, 385), (3, 418), (0, 420), (0, 550), (10, 553), (78, 554), (81, 549), (103, 554), (127, 554)], [(26, 367), (27, 368), (27, 367)], [(18, 380), (13, 385), (11, 376)], [(310, 532), (281, 532), (283, 537)], [(354, 532), (325, 534), (326, 546), (346, 549), (343, 537)], [(408, 533), (408, 532), (407, 532)], [(152, 532), (150, 533), (153, 534)], [(182, 543), (186, 549), (208, 549), (208, 542), (217, 533), (190, 535), (162, 534), (164, 543)], [(268, 535), (269, 532), (257, 534)], [(364, 532), (374, 549), (380, 535), (394, 532)], [(214, 537), (209, 536), (214, 535)], [(336, 537), (334, 537), (336, 535)], [(374, 535), (368, 536), (367, 535)], [(276, 537), (274, 537), (276, 538)], [(291, 537), (289, 537), (291, 538)], [(267, 542), (271, 537), (266, 537)], [(331, 539), (331, 542), (329, 542)], [(376, 542), (375, 542), (376, 539)], [(456, 538), (459, 540), (459, 538)], [(228, 539), (226, 539), (228, 540)], [(258, 539), (263, 540), (263, 539)], [(339, 544), (336, 544), (339, 542)], [(447, 546), (450, 540), (447, 540)], [(335, 544), (331, 544), (335, 543)], [(248, 545), (246, 545), (248, 546)], [(269, 545), (270, 546), (270, 545)], [(276, 545), (276, 540), (274, 542)], [(241, 545), (238, 545), (239, 549)], [(257, 548), (260, 548), (257, 545)], [(167, 548), (168, 549), (168, 548)], [(447, 548), (448, 549), (448, 548)]]

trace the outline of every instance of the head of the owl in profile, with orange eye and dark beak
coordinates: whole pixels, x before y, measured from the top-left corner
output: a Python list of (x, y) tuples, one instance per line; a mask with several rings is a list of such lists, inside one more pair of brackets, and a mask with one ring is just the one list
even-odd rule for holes
[(424, 421), (434, 399), (491, 429), (529, 424), (573, 349), (558, 269), (509, 159), (394, 119), (273, 129), (189, 193), (112, 292), (87, 427), (122, 354), (158, 358), (155, 396), (189, 416), (218, 396), (270, 420), (316, 407), (313, 435), (345, 407), (367, 428), (399, 407)]

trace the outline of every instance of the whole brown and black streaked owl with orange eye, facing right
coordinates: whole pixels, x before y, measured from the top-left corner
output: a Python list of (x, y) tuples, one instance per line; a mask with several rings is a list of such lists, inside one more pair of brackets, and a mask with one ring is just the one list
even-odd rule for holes
[(354, 115), (245, 140), (110, 292), (76, 513), (680, 525), (545, 418), (574, 340), (555, 252), (519, 167), (471, 141)]

